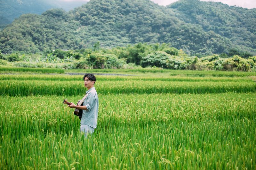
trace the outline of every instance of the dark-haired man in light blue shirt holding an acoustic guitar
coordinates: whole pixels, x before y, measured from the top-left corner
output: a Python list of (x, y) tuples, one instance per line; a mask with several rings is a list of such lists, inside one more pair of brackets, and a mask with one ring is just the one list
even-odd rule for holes
[(99, 100), (98, 94), (95, 90), (96, 78), (93, 74), (84, 75), (84, 86), (87, 88), (88, 96), (84, 99), (83, 106), (76, 106), (74, 103), (71, 103), (70, 108), (82, 109), (82, 119), (80, 132), (84, 133), (84, 137), (87, 137), (88, 133), (93, 133), (94, 129), (97, 126), (98, 118), (98, 109), (99, 109)]

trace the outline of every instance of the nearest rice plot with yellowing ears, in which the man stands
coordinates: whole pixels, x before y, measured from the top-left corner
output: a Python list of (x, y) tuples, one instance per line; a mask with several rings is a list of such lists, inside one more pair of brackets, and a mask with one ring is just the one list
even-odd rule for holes
[(86, 139), (78, 96), (4, 96), (0, 169), (255, 169), (255, 94), (100, 94)]

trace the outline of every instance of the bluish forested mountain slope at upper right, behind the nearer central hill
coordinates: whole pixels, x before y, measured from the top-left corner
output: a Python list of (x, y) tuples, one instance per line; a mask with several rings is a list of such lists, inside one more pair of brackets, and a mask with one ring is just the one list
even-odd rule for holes
[[(188, 5), (190, 4), (190, 5)], [(228, 38), (232, 47), (241, 51), (256, 48), (256, 8), (228, 6), (214, 2), (180, 0), (167, 8), (186, 23), (202, 27), (205, 32)]]

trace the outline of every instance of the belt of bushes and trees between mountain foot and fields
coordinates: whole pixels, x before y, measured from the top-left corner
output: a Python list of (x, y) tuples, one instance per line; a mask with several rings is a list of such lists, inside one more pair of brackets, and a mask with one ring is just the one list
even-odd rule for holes
[(242, 58), (237, 54), (209, 55), (198, 58), (170, 44), (138, 43), (126, 47), (47, 51), (44, 55), (13, 53), (0, 55), (0, 65), (61, 69), (140, 69), (155, 67), (172, 70), (256, 71), (256, 56)]

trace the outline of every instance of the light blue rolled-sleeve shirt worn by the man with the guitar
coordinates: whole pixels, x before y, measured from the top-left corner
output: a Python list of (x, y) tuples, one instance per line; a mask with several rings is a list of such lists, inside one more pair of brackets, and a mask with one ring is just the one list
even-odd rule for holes
[(95, 90), (95, 87), (89, 89), (86, 94), (89, 92), (88, 96), (84, 99), (83, 106), (86, 106), (88, 110), (83, 110), (83, 115), (81, 119), (81, 125), (88, 125), (92, 128), (97, 127), (98, 119), (98, 110), (99, 110), (99, 100), (98, 94)]

